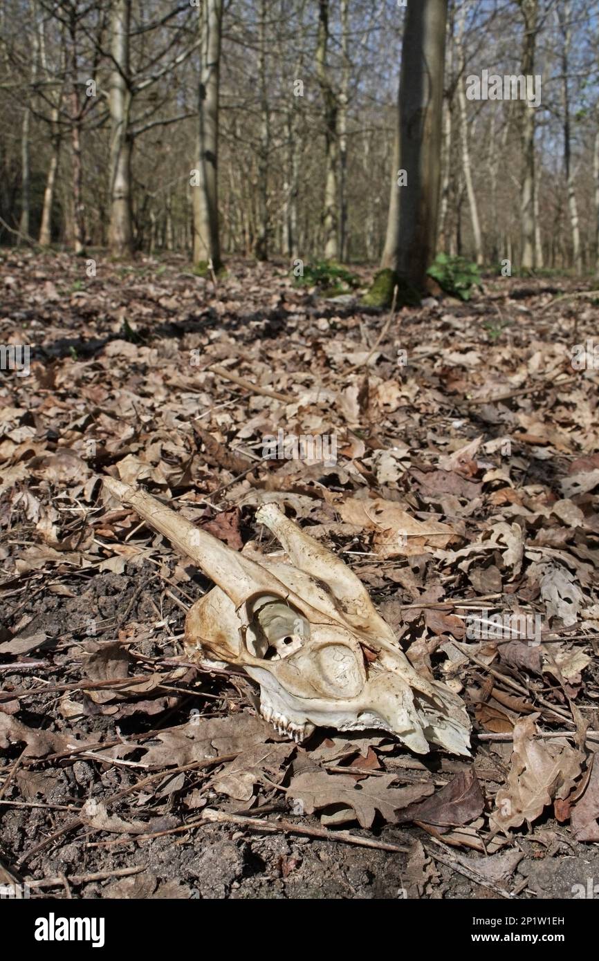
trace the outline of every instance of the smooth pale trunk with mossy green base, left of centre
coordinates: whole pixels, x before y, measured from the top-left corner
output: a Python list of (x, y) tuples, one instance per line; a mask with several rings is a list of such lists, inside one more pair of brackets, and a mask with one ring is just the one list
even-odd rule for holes
[(218, 233), (218, 95), (222, 0), (204, 0), (200, 11), (201, 66), (197, 171), (193, 187), (193, 262), (221, 266)]

